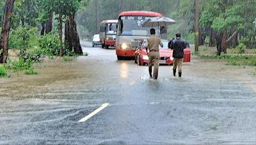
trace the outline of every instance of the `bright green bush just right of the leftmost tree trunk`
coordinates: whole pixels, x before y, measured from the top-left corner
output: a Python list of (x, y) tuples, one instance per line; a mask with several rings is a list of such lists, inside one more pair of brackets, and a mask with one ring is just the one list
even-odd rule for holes
[(33, 41), (31, 41), (31, 38), (36, 38), (35, 31), (35, 27), (17, 27), (16, 29), (12, 29), (9, 36), (9, 47), (19, 50), (31, 48), (31, 43), (33, 43)]

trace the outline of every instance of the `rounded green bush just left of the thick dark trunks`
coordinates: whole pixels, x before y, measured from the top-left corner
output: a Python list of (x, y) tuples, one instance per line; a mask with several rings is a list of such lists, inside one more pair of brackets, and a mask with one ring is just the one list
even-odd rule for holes
[(39, 47), (42, 53), (47, 56), (57, 56), (60, 53), (60, 44), (58, 36), (53, 34), (45, 34), (40, 41)]

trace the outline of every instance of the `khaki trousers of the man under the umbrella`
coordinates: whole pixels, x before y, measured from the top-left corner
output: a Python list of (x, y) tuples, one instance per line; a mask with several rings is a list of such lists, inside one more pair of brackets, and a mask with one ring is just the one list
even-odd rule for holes
[(148, 53), (148, 72), (152, 77), (152, 65), (154, 60), (154, 72), (153, 78), (157, 79), (158, 76), (158, 67), (159, 67), (159, 52), (149, 52)]

